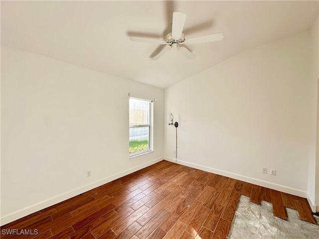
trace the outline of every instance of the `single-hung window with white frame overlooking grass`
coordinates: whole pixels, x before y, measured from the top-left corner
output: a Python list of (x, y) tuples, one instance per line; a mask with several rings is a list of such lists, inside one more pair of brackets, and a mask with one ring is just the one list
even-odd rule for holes
[(152, 152), (151, 101), (130, 98), (130, 157)]

